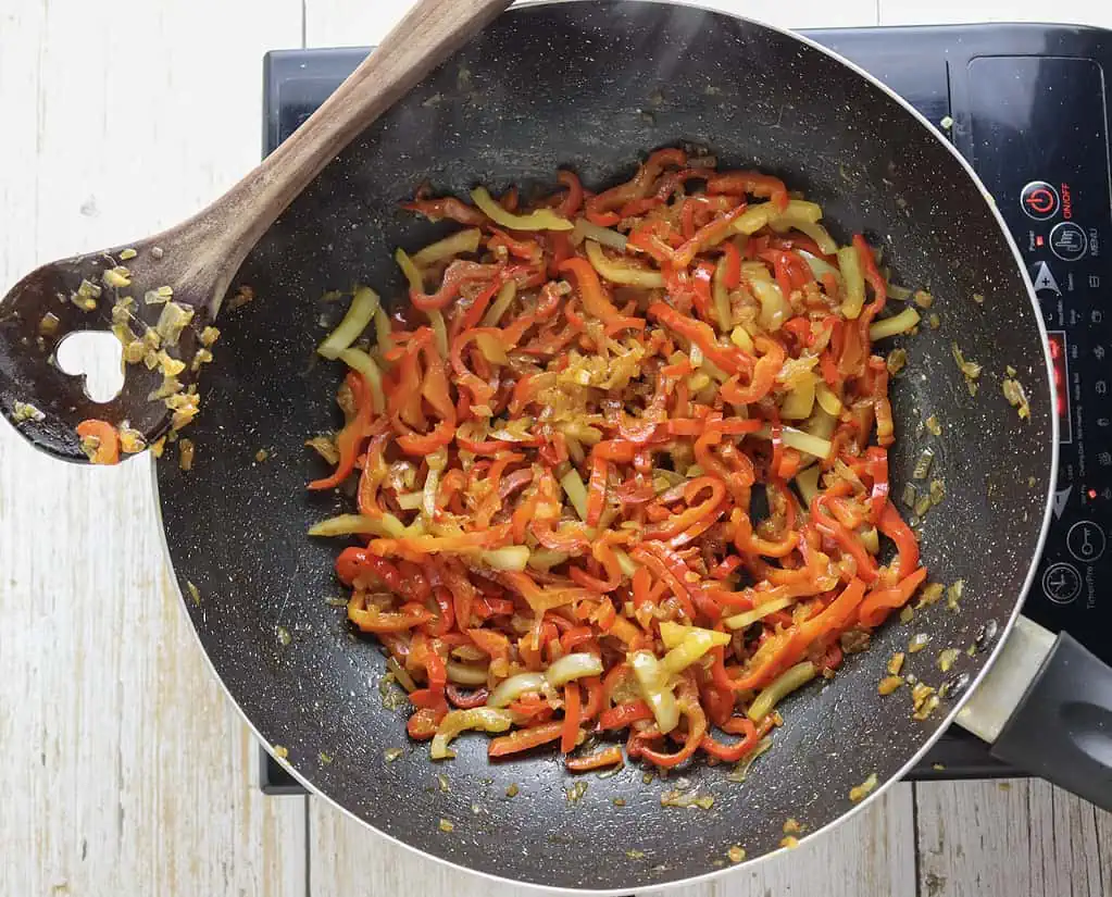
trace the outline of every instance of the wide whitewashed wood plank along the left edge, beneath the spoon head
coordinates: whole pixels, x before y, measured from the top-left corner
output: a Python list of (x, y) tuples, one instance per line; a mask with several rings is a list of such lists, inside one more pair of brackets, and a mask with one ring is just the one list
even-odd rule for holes
[[(6, 3), (0, 292), (231, 184), (258, 158), (262, 51), (299, 36), (298, 0)], [(149, 462), (68, 466), (0, 425), (0, 894), (302, 895), (305, 800), (255, 788)]]

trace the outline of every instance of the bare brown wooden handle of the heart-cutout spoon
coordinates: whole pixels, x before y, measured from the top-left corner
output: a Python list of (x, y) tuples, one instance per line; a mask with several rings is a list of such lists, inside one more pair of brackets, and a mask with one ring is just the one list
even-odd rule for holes
[[(181, 225), (190, 274), (214, 282), (209, 314), (247, 254), (353, 138), (513, 0), (420, 0), (378, 48), (261, 165)], [(187, 275), (188, 277), (189, 275)]]

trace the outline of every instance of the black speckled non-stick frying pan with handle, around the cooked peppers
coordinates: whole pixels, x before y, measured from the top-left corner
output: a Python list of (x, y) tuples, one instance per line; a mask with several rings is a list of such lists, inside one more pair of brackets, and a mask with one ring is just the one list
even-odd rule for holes
[[(786, 700), (784, 727), (744, 783), (722, 767), (645, 781), (629, 766), (578, 779), (587, 789), (574, 799), (575, 780), (554, 753), (493, 765), (481, 736), (460, 738), (457, 759), (435, 765), (427, 746), (408, 742), (405, 710), (384, 699), (381, 652), (328, 602), (340, 594), (337, 548), (306, 538), (349, 503), (305, 490), (320, 470), (302, 443), (337, 424), (340, 372), (312, 361), (331, 324), (320, 297), (354, 282), (405, 295), (391, 249), (445, 233), (398, 210), (424, 180), (438, 191), (477, 183), (529, 189), (569, 166), (598, 189), (629, 177), (645, 151), (685, 141), (724, 167), (783, 177), (822, 204), (840, 241), (863, 230), (883, 245), (895, 280), (935, 296), (942, 326), (906, 342), (906, 374), (892, 388), (892, 471), (898, 495), (922, 447), (934, 450), (932, 475), (944, 479), (947, 497), (925, 520), (923, 559), (933, 581), (964, 581), (961, 608), (939, 602), (907, 624), (887, 624), (833, 680)], [(1009, 637), (1042, 548), (1056, 463), (1045, 334), (1030, 284), (969, 166), (906, 103), (837, 57), (686, 6), (516, 8), (348, 146), (264, 236), (237, 283), (257, 298), (221, 319), (205, 411), (189, 434), (193, 467), (155, 467), (167, 548), (200, 643), (250, 724), (284, 748), (307, 786), (378, 831), (547, 887), (675, 883), (728, 866), (732, 845), (751, 859), (776, 849), (788, 818), (804, 836), (818, 832), (861, 806), (850, 790), (873, 773), (875, 798), (963, 702), (962, 719), (995, 738), (1001, 756), (1112, 806), (1112, 673), (1069, 637), (1054, 642), (1025, 621)], [(0, 326), (7, 372), (28, 352), (12, 333)], [(954, 364), (955, 342), (984, 365), (976, 396)], [(1030, 421), (1002, 395), (1007, 366), (1027, 392)], [(9, 417), (14, 398), (33, 401), (19, 388), (18, 376), (3, 378)], [(931, 416), (940, 436), (923, 426)], [(269, 457), (257, 463), (260, 448)], [(917, 632), (931, 641), (909, 654), (905, 671), (944, 686), (925, 721), (912, 719), (907, 689), (881, 697), (876, 688), (887, 659)], [(944, 648), (961, 649), (946, 673), (937, 666)], [(395, 747), (403, 753), (388, 762), (384, 751)], [(662, 806), (677, 787), (713, 796), (713, 807)]]

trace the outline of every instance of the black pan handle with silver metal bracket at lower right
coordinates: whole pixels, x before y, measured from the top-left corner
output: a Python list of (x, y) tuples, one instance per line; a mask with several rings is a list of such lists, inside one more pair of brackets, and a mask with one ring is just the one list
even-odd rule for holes
[(1112, 810), (1112, 667), (1019, 618), (957, 714), (992, 755)]

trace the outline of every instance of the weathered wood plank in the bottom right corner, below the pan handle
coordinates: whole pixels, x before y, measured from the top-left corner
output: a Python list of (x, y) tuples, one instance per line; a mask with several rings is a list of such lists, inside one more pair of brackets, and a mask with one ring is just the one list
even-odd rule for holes
[(915, 786), (925, 897), (1103, 897), (1112, 814), (1040, 779)]

